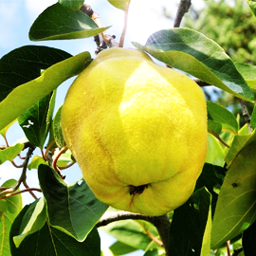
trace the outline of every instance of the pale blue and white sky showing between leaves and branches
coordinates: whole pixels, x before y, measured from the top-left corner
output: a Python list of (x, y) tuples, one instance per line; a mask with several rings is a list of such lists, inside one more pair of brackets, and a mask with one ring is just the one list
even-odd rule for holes
[[(72, 55), (76, 55), (82, 51), (89, 51), (94, 57), (96, 45), (93, 38), (68, 40), (68, 41), (46, 41), (31, 42), (28, 39), (28, 30), (35, 18), (46, 7), (55, 4), (57, 0), (0, 0), (0, 58), (14, 48), (26, 45), (36, 46), (52, 46), (61, 48)], [(196, 0), (196, 7), (201, 7), (203, 0)], [(174, 17), (177, 9), (178, 0), (132, 0), (130, 6), (128, 28), (124, 47), (134, 47), (130, 42), (135, 41), (141, 45), (145, 44), (147, 38), (157, 30), (163, 28), (172, 28), (173, 21), (162, 16), (162, 9), (165, 7)], [(99, 13), (104, 26), (112, 26), (107, 33), (117, 36), (121, 33), (123, 25), (123, 12), (112, 7), (107, 0), (87, 0), (86, 4)], [(72, 79), (64, 82), (58, 89), (56, 110), (64, 101), (66, 90), (70, 86)], [(17, 140), (25, 137), (22, 129), (14, 124), (8, 131), (9, 144), (14, 144)], [(5, 141), (0, 137), (0, 145), (4, 145)], [(9, 178), (19, 177), (20, 169), (12, 167), (7, 162), (0, 166), (0, 184)], [(72, 174), (71, 174), (72, 173)], [(67, 181), (74, 182), (81, 176), (78, 166), (72, 170), (66, 171)], [(35, 170), (27, 173), (27, 184), (30, 187), (39, 187), (37, 182), (37, 174)], [(24, 204), (33, 201), (33, 198), (27, 193), (23, 194)], [(112, 243), (113, 240), (107, 241), (104, 246)]]

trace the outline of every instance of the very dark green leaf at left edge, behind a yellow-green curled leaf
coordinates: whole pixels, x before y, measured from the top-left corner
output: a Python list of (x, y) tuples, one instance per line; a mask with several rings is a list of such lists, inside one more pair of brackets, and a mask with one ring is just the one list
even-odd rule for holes
[[(63, 50), (46, 46), (22, 46), (10, 51), (0, 59), (0, 101), (18, 85), (40, 77), (42, 69), (70, 57)], [(26, 99), (28, 95), (21, 97)]]

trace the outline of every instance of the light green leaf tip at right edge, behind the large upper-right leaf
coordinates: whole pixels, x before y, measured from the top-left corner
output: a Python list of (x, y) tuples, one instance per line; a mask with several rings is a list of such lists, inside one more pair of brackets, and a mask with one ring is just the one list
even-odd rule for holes
[(251, 64), (235, 63), (235, 67), (244, 77), (251, 89), (256, 89), (256, 66)]

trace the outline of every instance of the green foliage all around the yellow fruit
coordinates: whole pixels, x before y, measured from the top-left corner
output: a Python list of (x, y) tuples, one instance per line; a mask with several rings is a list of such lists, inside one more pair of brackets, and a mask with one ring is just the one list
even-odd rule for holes
[[(130, 1), (108, 2), (127, 14)], [(102, 48), (114, 46), (112, 37), (108, 40), (108, 35), (101, 34), (108, 27), (101, 27), (93, 15), (83, 13), (82, 3), (59, 0), (42, 10), (31, 25), (29, 38), (61, 40), (99, 35), (97, 43)], [(209, 1), (198, 14), (195, 29), (163, 29), (149, 35), (145, 46), (133, 43), (163, 64), (196, 78), (199, 85), (210, 84), (238, 98), (246, 120), (240, 127), (226, 103), (207, 102), (209, 149), (202, 174), (191, 198), (164, 216), (113, 210), (95, 197), (83, 179), (71, 185), (64, 182), (62, 170), (71, 167), (75, 159), (64, 143), (62, 107), (56, 114), (53, 111), (56, 90), (90, 64), (89, 52), (71, 56), (62, 49), (22, 46), (0, 59), (0, 135), (6, 141), (0, 147), (0, 164), (10, 161), (15, 165), (16, 157), (27, 153), (20, 177), (0, 188), (0, 255), (123, 255), (141, 249), (149, 256), (207, 256), (226, 255), (229, 243), (234, 255), (243, 249), (244, 254), (239, 255), (255, 255), (256, 110), (248, 113), (247, 102), (254, 103), (256, 88), (252, 65), (256, 62), (256, 18), (252, 15), (256, 3), (248, 1), (252, 12), (247, 14), (244, 3), (237, 0), (235, 4), (231, 9), (224, 1)], [(221, 18), (213, 19), (218, 15)], [(214, 28), (211, 34), (208, 27)], [(236, 54), (239, 52), (242, 55)], [(27, 140), (9, 146), (6, 134), (17, 119)], [(41, 155), (31, 158), (36, 148)], [(38, 170), (40, 189), (27, 187), (27, 169)], [(23, 191), (19, 190), (21, 184), (25, 185)], [(21, 193), (36, 197), (33, 191), (43, 196), (22, 209)], [(108, 251), (101, 252), (98, 229), (117, 238)]]

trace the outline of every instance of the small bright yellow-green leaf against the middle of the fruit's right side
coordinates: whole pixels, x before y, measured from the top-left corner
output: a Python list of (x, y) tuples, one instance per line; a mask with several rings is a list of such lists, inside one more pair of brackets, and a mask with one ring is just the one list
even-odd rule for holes
[(208, 134), (208, 151), (206, 162), (213, 165), (224, 166), (224, 158), (225, 153), (221, 142), (216, 137)]

